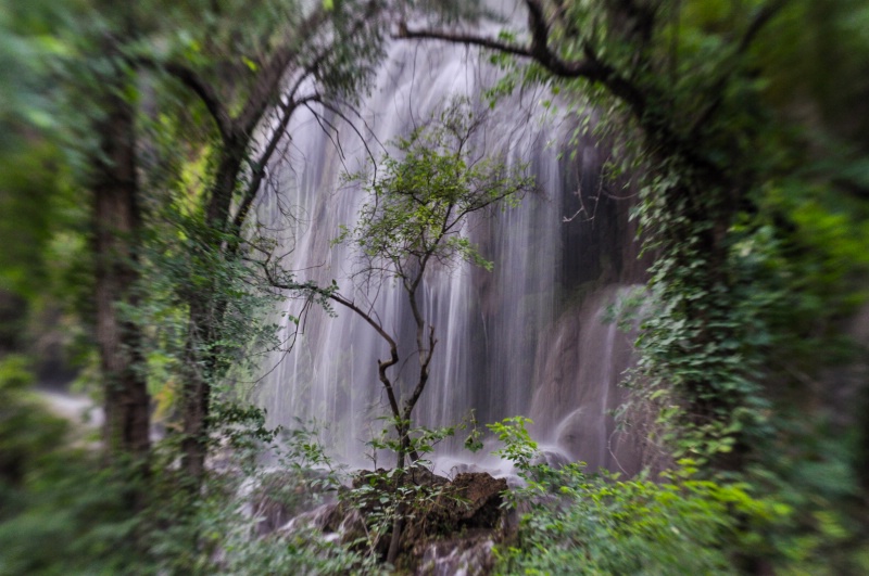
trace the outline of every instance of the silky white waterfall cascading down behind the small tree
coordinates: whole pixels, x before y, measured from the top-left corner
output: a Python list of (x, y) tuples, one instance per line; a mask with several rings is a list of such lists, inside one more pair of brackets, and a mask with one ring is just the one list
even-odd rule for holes
[[(411, 312), (391, 282), (367, 291), (354, 286), (352, 252), (332, 245), (340, 225), (353, 226), (364, 196), (342, 184), (341, 174), (358, 169), (367, 150), (377, 155), (380, 143), (407, 135), (453, 95), (477, 102), (495, 79), (495, 71), (478, 65), (476, 51), (393, 44), (362, 108), (365, 126), (355, 127), (366, 136), (365, 145), (350, 127), (330, 138), (312, 117), (298, 118), (277, 167), (284, 188), (259, 206), (262, 222), (282, 229), (278, 252), (291, 252), (286, 268), (320, 284), (337, 281), (343, 295), (370, 303), (398, 336), (402, 362), (392, 370), (401, 374), (400, 386), (403, 375), (413, 380), (417, 370)], [(415, 424), (455, 424), (471, 409), (479, 422), (528, 415), (536, 421), (533, 435), (570, 458), (631, 471), (635, 450), (618, 437), (606, 413), (621, 398), (617, 383), (630, 362), (630, 341), (603, 324), (601, 313), (619, 285), (640, 280), (642, 272), (630, 264), (635, 254), (626, 207), (601, 200), (599, 151), (588, 139), (568, 148), (572, 126), (544, 121), (542, 98), (525, 93), (499, 103), (477, 139), (488, 154), (529, 163), (540, 192), (518, 208), (474, 222), (471, 240), (494, 263), (492, 272), (462, 265), (428, 274), (423, 306), (438, 345)], [(577, 153), (559, 155), (569, 150)], [(593, 218), (590, 202), (601, 207)], [(587, 209), (580, 217), (565, 221), (581, 206)], [(287, 213), (295, 218), (289, 225)], [(290, 300), (285, 311), (299, 315), (299, 305)], [(350, 310), (335, 312), (314, 308), (303, 319), (292, 351), (272, 359), (259, 401), (272, 424), (292, 426), (294, 419), (326, 424), (336, 453), (366, 465), (364, 443), (382, 427), (375, 419), (389, 413), (377, 377), (377, 360), (388, 357), (388, 348)], [(295, 330), (288, 324), (287, 340)]]

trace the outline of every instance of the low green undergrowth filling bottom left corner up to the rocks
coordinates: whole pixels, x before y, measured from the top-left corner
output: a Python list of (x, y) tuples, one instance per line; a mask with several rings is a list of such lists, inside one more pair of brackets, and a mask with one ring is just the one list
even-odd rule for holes
[[(5, 363), (2, 373), (10, 386), (23, 382), (26, 374), (17, 360)], [(12, 469), (3, 462), (0, 573), (377, 572), (374, 559), (327, 541), (313, 529), (270, 536), (260, 533), (265, 494), (272, 498), (282, 495), (282, 504), (289, 510), (304, 510), (312, 499), (307, 490), (322, 492), (324, 486), (315, 484), (317, 475), (311, 472), (315, 459), (308, 457), (316, 445), (311, 439), (304, 443), (306, 448), (301, 441), (292, 443), (299, 447), (286, 456), (286, 468), (277, 473), (256, 463), (272, 437), (263, 437), (259, 410), (247, 411), (250, 418), (243, 420), (251, 423), (235, 423), (222, 468), (210, 472), (201, 492), (191, 492), (171, 465), (177, 453), (172, 443), (156, 447), (147, 478), (140, 469), (105, 468), (92, 451), (64, 445), (63, 423), (46, 414), (38, 404), (12, 396), (13, 388), (2, 388), (2, 423), (23, 427), (2, 430), (2, 453), (26, 458), (15, 478), (7, 475)], [(8, 438), (16, 444), (9, 445)], [(129, 500), (144, 482), (147, 499), (131, 513)]]

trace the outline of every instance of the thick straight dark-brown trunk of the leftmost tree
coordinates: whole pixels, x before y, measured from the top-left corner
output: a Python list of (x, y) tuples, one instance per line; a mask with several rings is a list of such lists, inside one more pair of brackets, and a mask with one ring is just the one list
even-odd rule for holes
[(138, 304), (135, 120), (131, 106), (112, 88), (117, 87), (105, 89), (105, 116), (96, 126), (101, 135), (100, 157), (91, 179), (96, 337), (105, 395), (105, 446), (113, 455), (139, 459), (150, 449), (150, 399), (140, 369), (139, 329), (119, 309)]

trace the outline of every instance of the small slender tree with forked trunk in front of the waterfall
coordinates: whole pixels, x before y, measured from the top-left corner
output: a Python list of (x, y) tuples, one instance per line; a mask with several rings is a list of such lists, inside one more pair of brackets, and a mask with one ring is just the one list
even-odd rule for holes
[(368, 200), (352, 229), (344, 227), (336, 240), (353, 246), (362, 261), (356, 278), (392, 279), (404, 291), (416, 324), (419, 370), (411, 395), (400, 397), (390, 368), (399, 363), (393, 334), (371, 311), (338, 292), (329, 297), (365, 320), (389, 345), (389, 358), (378, 360), (378, 374), (387, 393), (398, 433), (398, 468), (410, 455), (411, 418), (429, 379), (437, 338), (434, 327), (420, 308), (419, 287), (433, 265), (451, 267), (467, 261), (491, 269), (467, 235), (471, 215), (496, 206), (515, 206), (532, 189), (526, 165), (508, 167), (486, 157), (474, 145), (484, 117), (475, 116), (467, 100), (454, 100), (440, 116), (394, 141), (398, 157), (386, 155), (375, 176), (351, 175), (349, 181), (365, 182)]

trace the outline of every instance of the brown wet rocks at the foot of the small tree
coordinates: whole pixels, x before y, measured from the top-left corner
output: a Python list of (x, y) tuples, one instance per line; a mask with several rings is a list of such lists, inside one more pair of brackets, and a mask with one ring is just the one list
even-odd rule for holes
[[(452, 481), (418, 468), (405, 473), (400, 487), (386, 470), (362, 472), (340, 502), (299, 509), (287, 521), (287, 509), (274, 504), (275, 498), (261, 497), (261, 532), (291, 534), (301, 527), (322, 530), (327, 539), (358, 546), (363, 553), (374, 551), (386, 559), (393, 529), (391, 515), (399, 495), (405, 522), (401, 530), (396, 568), (414, 574), (489, 574), (494, 566), (492, 548), (504, 537), (504, 478), (486, 472), (465, 472)], [(278, 488), (281, 486), (278, 486)], [(270, 486), (275, 488), (275, 486)], [(392, 507), (392, 508), (390, 508)], [(279, 509), (279, 510), (278, 510)], [(279, 512), (279, 513), (276, 513)], [(376, 526), (378, 519), (379, 527)], [(383, 520), (386, 519), (386, 520)], [(262, 530), (265, 528), (265, 530)], [(376, 541), (364, 542), (373, 534)]]

